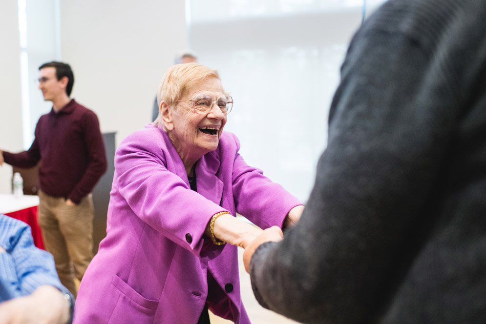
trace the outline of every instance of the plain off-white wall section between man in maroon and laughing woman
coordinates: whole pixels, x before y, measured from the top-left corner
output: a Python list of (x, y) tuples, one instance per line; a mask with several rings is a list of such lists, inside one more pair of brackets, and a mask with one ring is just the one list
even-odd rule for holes
[(119, 143), (151, 122), (159, 81), (188, 47), (184, 1), (61, 0), (61, 44), (73, 98)]

